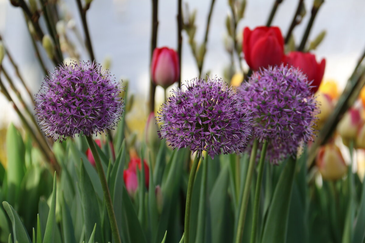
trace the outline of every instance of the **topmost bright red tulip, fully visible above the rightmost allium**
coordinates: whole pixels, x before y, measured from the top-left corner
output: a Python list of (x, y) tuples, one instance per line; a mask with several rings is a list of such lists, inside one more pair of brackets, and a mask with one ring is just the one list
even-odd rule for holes
[(256, 27), (243, 30), (243, 52), (252, 70), (275, 66), (284, 58), (284, 38), (278, 27)]

